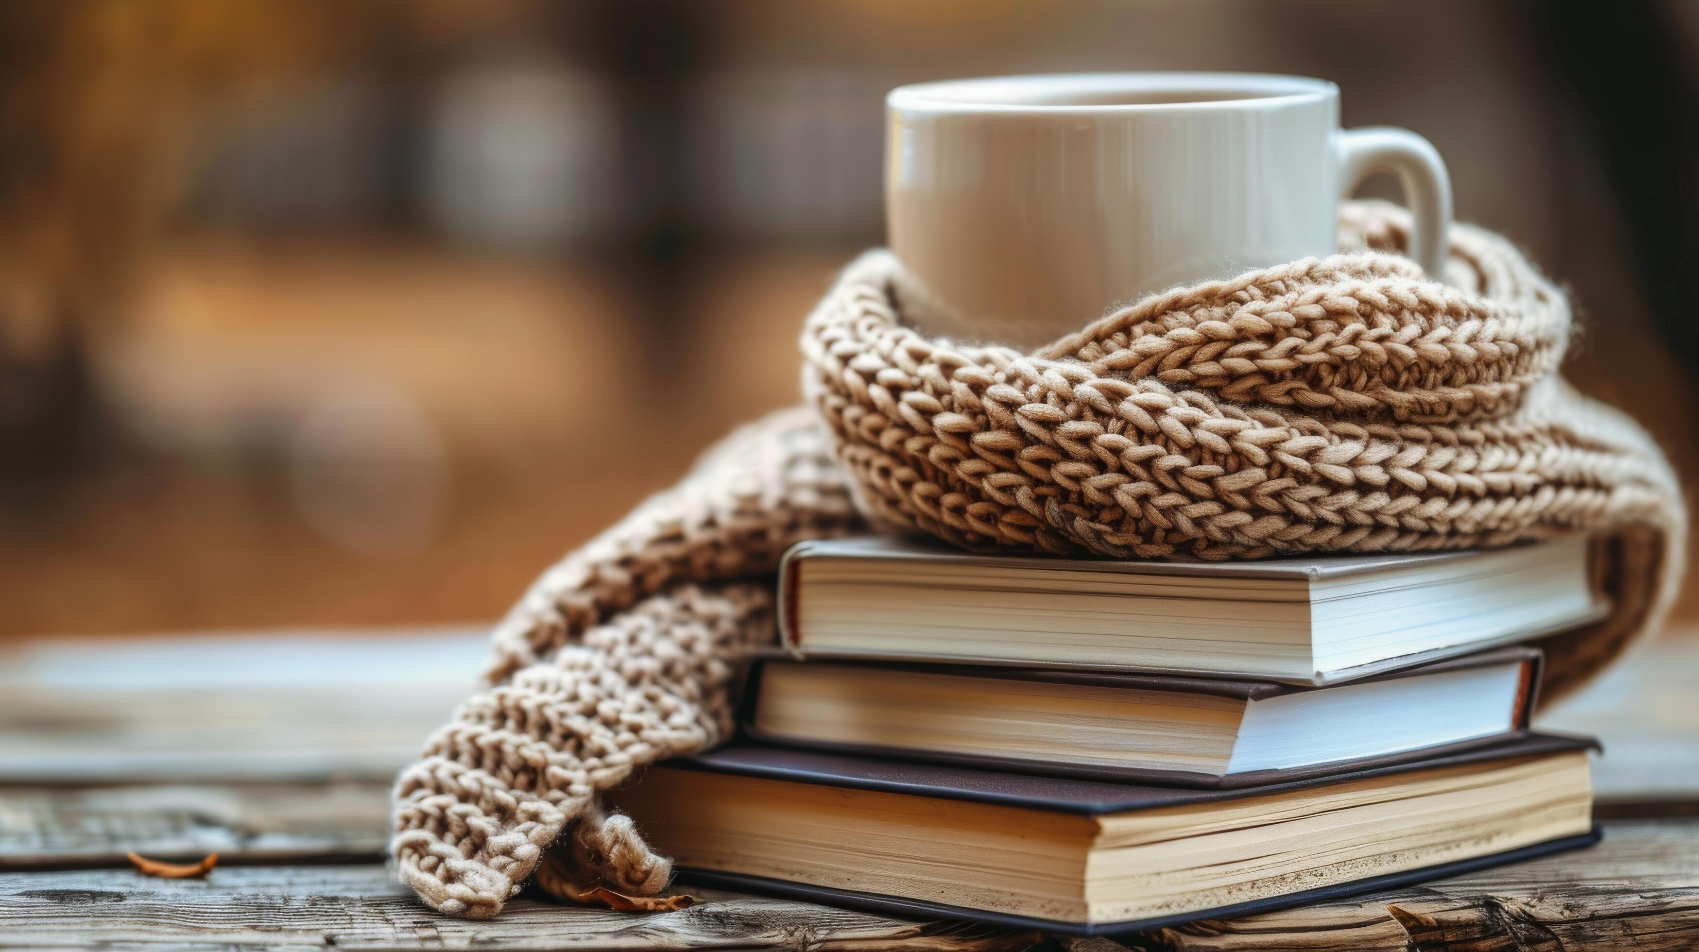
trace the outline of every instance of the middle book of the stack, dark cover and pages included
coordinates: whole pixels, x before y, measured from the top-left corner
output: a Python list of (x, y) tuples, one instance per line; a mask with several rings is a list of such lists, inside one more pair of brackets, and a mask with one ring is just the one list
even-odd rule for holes
[(1541, 654), (1507, 648), (1330, 687), (1169, 675), (765, 660), (754, 740), (1028, 774), (1242, 787), (1527, 731)]

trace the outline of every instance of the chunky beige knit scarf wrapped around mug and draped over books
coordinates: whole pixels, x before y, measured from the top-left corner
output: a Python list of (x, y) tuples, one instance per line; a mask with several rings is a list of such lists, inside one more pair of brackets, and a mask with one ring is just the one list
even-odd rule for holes
[[(488, 688), (396, 785), (401, 879), (491, 916), (554, 892), (652, 894), (671, 864), (600, 794), (732, 728), (793, 542), (875, 525), (977, 549), (1262, 558), (1590, 532), (1609, 619), (1549, 638), (1546, 697), (1655, 627), (1685, 517), (1631, 420), (1555, 372), (1563, 294), (1456, 228), (1446, 280), (1407, 219), (1349, 206), (1344, 253), (1184, 287), (1035, 354), (902, 323), (900, 264), (855, 262), (802, 335), (812, 410), (732, 434), (549, 570), (494, 634)], [(542, 867), (539, 869), (539, 864)]]

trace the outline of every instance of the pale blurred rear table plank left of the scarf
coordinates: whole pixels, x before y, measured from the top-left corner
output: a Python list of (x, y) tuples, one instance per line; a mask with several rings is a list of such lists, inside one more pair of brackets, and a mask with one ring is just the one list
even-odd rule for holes
[(387, 780), (484, 651), (466, 629), (0, 646), (0, 782)]

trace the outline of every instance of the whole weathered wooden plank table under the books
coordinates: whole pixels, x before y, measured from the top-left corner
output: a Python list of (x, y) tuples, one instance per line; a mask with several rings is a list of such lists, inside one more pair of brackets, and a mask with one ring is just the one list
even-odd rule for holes
[[(1696, 634), (1546, 717), (1606, 741), (1600, 847), (1123, 944), (715, 891), (675, 913), (520, 898), (494, 921), (440, 916), (382, 865), (387, 785), (469, 690), (483, 632), (14, 643), (0, 648), (0, 949), (1687, 950)], [(150, 879), (126, 850), (223, 858), (206, 879)]]

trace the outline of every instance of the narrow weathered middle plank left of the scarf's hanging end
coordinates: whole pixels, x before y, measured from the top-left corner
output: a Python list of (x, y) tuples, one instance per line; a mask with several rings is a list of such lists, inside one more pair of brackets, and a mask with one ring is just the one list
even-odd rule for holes
[(389, 826), (389, 785), (163, 784), (0, 787), (0, 870), (127, 865), (155, 858), (375, 862)]

